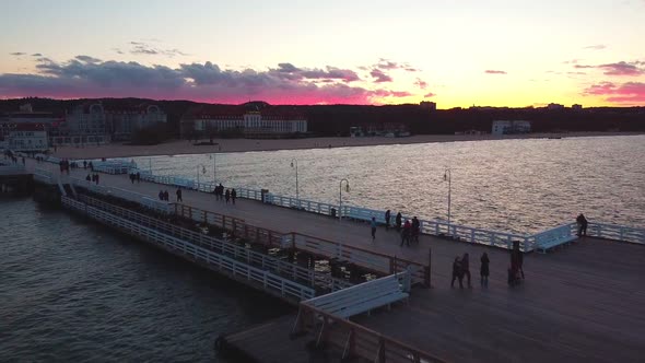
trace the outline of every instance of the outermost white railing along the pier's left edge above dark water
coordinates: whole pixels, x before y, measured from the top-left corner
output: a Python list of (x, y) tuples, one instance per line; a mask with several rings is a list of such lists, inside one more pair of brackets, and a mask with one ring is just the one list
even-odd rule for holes
[(62, 197), (62, 204), (82, 212), (104, 224), (124, 230), (143, 241), (164, 247), (166, 250), (189, 260), (204, 262), (215, 271), (224, 271), (234, 278), (251, 282), (251, 286), (262, 286), (262, 290), (296, 301), (304, 301), (315, 296), (312, 288), (281, 278), (272, 272), (255, 268), (234, 258), (216, 254), (208, 248), (196, 246), (189, 242), (166, 235), (154, 229), (142, 226), (136, 222), (113, 215), (98, 208), (87, 206), (73, 199)]

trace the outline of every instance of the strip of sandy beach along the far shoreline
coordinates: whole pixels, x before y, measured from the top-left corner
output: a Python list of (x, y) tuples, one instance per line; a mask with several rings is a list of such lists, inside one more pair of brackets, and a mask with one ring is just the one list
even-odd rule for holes
[(308, 138), (308, 139), (213, 139), (213, 145), (194, 145), (192, 141), (173, 140), (157, 145), (126, 145), (112, 143), (107, 145), (59, 147), (54, 155), (66, 159), (130, 157), (153, 155), (203, 154), (215, 152), (246, 152), (294, 149), (324, 149), (347, 147), (370, 147), (388, 144), (410, 144), (429, 142), (455, 142), (480, 140), (544, 139), (633, 136), (638, 132), (567, 132), (567, 133), (528, 133), (528, 134), (419, 134), (409, 138)]

